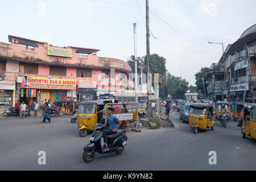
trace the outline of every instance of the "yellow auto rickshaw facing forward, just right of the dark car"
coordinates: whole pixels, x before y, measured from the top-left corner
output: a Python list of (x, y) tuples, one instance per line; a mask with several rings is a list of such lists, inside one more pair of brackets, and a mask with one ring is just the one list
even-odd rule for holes
[(190, 106), (189, 111), (189, 127), (193, 133), (198, 130), (213, 130), (214, 126), (214, 105), (208, 103), (197, 103)]

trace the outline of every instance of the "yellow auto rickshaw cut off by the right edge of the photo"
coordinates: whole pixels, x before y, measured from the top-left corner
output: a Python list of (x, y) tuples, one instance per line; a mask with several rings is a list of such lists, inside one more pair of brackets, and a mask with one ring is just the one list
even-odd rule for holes
[(246, 103), (242, 113), (242, 135), (256, 139), (256, 104)]

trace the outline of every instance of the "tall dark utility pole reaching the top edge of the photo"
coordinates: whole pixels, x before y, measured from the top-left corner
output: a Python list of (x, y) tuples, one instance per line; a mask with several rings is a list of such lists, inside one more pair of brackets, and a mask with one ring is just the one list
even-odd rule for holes
[(148, 0), (146, 0), (146, 28), (147, 28), (147, 117), (152, 114), (151, 104), (151, 76), (150, 75), (150, 34), (149, 34), (149, 10)]

